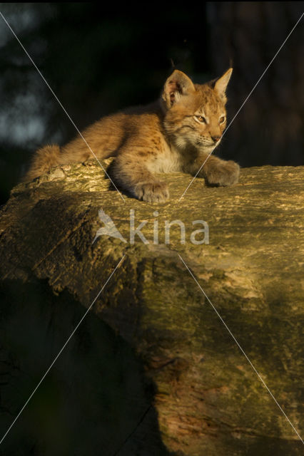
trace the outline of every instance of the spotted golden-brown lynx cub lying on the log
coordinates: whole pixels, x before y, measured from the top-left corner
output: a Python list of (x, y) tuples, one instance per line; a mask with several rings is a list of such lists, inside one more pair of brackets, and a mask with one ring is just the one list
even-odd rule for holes
[[(164, 202), (169, 197), (168, 187), (153, 173), (182, 171), (196, 175), (221, 142), (231, 73), (232, 68), (221, 78), (200, 85), (175, 70), (160, 100), (102, 118), (84, 130), (83, 137), (98, 159), (115, 157), (110, 175), (119, 188), (144, 201)], [(47, 145), (34, 155), (26, 180), (51, 166), (91, 157), (80, 137), (64, 147)], [(199, 177), (213, 185), (232, 185), (238, 182), (239, 172), (235, 162), (211, 155)]]

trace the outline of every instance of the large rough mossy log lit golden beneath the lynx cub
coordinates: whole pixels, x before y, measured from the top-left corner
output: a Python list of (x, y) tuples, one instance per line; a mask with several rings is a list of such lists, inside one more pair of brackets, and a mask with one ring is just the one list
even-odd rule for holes
[[(304, 167), (248, 168), (233, 187), (196, 180), (178, 202), (191, 178), (166, 175), (171, 200), (153, 205), (123, 202), (95, 162), (15, 187), (0, 217), (1, 432), (125, 257), (0, 454), (300, 455), (208, 299), (300, 432), (303, 177)], [(101, 207), (126, 239), (130, 209), (136, 227), (148, 220), (149, 244), (92, 244)], [(177, 228), (164, 243), (175, 219), (185, 244)], [(210, 244), (190, 242), (197, 219)]]

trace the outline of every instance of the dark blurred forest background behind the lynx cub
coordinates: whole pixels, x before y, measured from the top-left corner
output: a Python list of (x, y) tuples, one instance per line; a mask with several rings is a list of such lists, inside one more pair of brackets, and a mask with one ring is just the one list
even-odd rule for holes
[[(158, 97), (173, 65), (203, 83), (233, 65), (229, 118), (303, 12), (303, 2), (206, 2), (132, 11), (97, 3), (1, 4), (79, 129)], [(138, 15), (139, 14), (139, 15)], [(223, 138), (242, 166), (303, 164), (304, 19)], [(0, 203), (46, 143), (74, 126), (0, 17)]]

